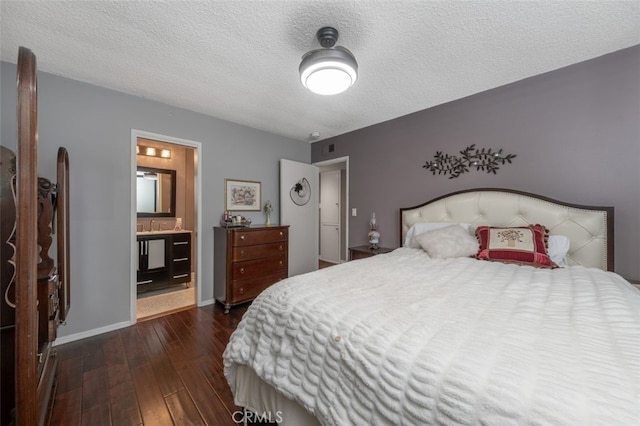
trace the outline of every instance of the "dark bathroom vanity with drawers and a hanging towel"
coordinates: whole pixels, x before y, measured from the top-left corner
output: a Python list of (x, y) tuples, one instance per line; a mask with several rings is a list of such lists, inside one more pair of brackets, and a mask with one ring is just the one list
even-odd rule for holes
[(138, 232), (138, 293), (191, 282), (191, 231)]

